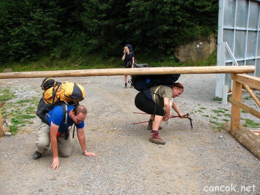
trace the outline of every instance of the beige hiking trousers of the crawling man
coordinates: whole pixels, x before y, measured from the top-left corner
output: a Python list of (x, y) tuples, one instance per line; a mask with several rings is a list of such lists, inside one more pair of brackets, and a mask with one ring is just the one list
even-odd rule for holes
[[(44, 122), (40, 122), (39, 129), (37, 131), (37, 137), (35, 145), (37, 146), (37, 151), (44, 154), (47, 152), (50, 143), (49, 135), (50, 126)], [(72, 153), (72, 147), (69, 137), (65, 139), (64, 136), (59, 136), (57, 139), (58, 155), (61, 157), (68, 157)]]

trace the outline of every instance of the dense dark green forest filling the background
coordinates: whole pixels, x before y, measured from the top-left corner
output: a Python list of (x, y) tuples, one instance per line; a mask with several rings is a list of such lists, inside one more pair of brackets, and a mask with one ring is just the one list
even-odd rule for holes
[(217, 31), (217, 0), (1, 0), (0, 62), (135, 51), (167, 55)]

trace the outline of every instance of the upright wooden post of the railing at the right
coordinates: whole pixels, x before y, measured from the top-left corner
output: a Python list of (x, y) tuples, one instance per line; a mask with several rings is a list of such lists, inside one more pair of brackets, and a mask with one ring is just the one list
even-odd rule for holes
[[(232, 99), (241, 102), (242, 97), (242, 84), (233, 80), (232, 86)], [(230, 118), (230, 133), (234, 133), (240, 125), (240, 107), (232, 103), (231, 105), (231, 118)]]

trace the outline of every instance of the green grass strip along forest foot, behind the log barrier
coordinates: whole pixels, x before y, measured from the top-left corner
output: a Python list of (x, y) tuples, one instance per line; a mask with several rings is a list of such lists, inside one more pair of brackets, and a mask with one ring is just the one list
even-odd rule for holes
[[(152, 57), (154, 56), (154, 57)], [(100, 69), (100, 68), (123, 68), (122, 55), (105, 57), (100, 53), (89, 53), (87, 55), (76, 55), (71, 53), (65, 58), (55, 58), (53, 56), (41, 56), (34, 61), (8, 62), (0, 67), (0, 71), (5, 68), (11, 68), (12, 71), (52, 71), (52, 70), (78, 70), (78, 69)], [(214, 55), (212, 56), (214, 57)], [(209, 57), (206, 61), (212, 60)], [(177, 60), (173, 56), (158, 57), (150, 53), (139, 52), (136, 58), (137, 63), (148, 63), (149, 67), (181, 67), (190, 66)], [(216, 62), (216, 59), (213, 60)], [(205, 63), (205, 64), (203, 64)], [(209, 62), (203, 62), (199, 65), (208, 65)], [(211, 63), (211, 62), (210, 62)], [(216, 63), (212, 64), (215, 65)]]

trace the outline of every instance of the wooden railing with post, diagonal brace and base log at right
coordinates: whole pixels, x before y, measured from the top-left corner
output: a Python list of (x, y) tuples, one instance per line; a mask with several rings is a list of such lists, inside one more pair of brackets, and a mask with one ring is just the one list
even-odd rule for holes
[(241, 102), (242, 87), (247, 90), (255, 103), (260, 107), (260, 101), (254, 95), (250, 88), (260, 89), (260, 78), (250, 76), (247, 74), (231, 74), (233, 80), (232, 97), (229, 98), (231, 102), (231, 119), (230, 124), (225, 124), (224, 128), (229, 132), (237, 141), (243, 144), (254, 155), (260, 158), (260, 138), (252, 133), (250, 130), (240, 125), (240, 111), (241, 109), (260, 118), (260, 112), (252, 107), (249, 107)]

